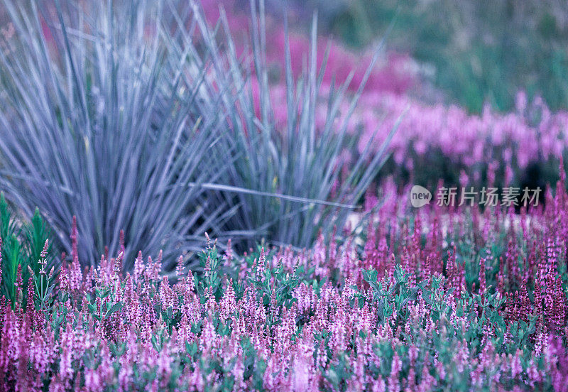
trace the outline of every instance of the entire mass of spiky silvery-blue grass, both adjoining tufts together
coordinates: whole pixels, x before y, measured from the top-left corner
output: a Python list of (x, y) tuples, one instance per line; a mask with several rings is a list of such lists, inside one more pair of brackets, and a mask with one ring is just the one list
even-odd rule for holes
[(241, 57), (224, 14), (210, 26), (192, 1), (1, 1), (16, 34), (0, 53), (0, 187), (26, 213), (40, 207), (65, 249), (76, 215), (82, 263), (105, 246), (118, 254), (121, 230), (127, 269), (159, 249), (170, 269), (169, 256), (195, 250), (206, 231), (310, 246), (343, 226), (384, 161), (384, 148), (366, 151), (339, 178), (345, 116), (363, 86), (339, 126), (349, 80), (332, 88), (316, 129), (316, 20), (297, 80), (287, 44), (288, 121), (277, 129), (263, 2), (251, 1)]

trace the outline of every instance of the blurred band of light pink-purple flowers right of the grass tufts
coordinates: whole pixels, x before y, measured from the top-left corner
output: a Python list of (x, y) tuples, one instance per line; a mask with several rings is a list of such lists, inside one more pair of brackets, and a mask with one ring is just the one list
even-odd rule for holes
[(364, 129), (359, 149), (376, 131), (378, 119), (383, 119), (376, 136), (380, 142), (401, 114), (391, 151), (395, 163), (410, 171), (436, 155), (452, 170), (464, 168), (479, 183), (481, 169), (488, 171), (488, 166), (515, 168), (513, 174), (520, 175), (530, 163), (557, 160), (567, 152), (568, 113), (552, 113), (541, 99), (528, 104), (523, 92), (517, 95), (514, 112), (500, 114), (486, 107), (481, 115), (456, 106), (423, 104), (405, 95), (368, 92), (361, 97), (359, 123), (352, 128)]

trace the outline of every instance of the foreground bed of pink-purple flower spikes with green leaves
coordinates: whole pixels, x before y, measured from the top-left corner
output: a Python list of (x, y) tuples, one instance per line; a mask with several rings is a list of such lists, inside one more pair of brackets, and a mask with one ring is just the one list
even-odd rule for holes
[(406, 206), (312, 251), (209, 243), (169, 277), (160, 255), (82, 271), (74, 244), (58, 278), (1, 299), (1, 388), (566, 391), (568, 195), (520, 215)]

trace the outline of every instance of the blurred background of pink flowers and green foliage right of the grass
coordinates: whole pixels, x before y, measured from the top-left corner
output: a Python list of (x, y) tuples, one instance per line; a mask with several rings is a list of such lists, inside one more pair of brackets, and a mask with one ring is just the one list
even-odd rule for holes
[[(249, 12), (246, 0), (208, 0), (210, 20), (217, 20), (219, 5), (233, 15)], [(451, 186), (558, 180), (559, 158), (567, 158), (564, 1), (268, 0), (266, 9), (274, 19), (268, 42), (277, 48), (269, 55), (275, 85), (283, 75), (284, 13), (293, 25), (296, 67), (305, 65), (317, 12), (319, 50), (332, 48), (327, 80), (342, 82), (353, 70), (351, 87), (386, 40), (351, 119), (361, 151), (373, 131), (381, 141), (402, 116), (377, 183), (390, 176), (399, 185), (430, 187), (439, 180)]]

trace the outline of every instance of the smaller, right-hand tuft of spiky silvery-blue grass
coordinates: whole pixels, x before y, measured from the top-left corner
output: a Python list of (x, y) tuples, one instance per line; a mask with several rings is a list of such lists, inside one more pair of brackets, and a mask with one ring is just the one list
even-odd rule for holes
[[(354, 162), (341, 160), (342, 153), (354, 150), (356, 137), (348, 137), (347, 126), (384, 41), (376, 48), (355, 94), (347, 93), (352, 74), (326, 92), (322, 80), (329, 48), (318, 69), (317, 15), (312, 21), (307, 67), (300, 77), (293, 76), (284, 15), (286, 97), (284, 102), (273, 102), (266, 60), (269, 31), (264, 2), (251, 0), (249, 4), (251, 48), (244, 50), (244, 55), (239, 54), (238, 45), (231, 38), (224, 12), (215, 34), (197, 13), (200, 30), (207, 32), (204, 48), (212, 53), (210, 72), (220, 86), (215, 90), (219, 98), (214, 111), (222, 118), (219, 123), (226, 132), (219, 144), (224, 145), (223, 150), (233, 151), (236, 157), (222, 175), (222, 182), (233, 187), (212, 189), (219, 190), (218, 200), (240, 206), (226, 222), (227, 232), (256, 233), (256, 240), (265, 238), (272, 244), (311, 246), (319, 232), (329, 236), (334, 227), (344, 227), (386, 160), (386, 146), (395, 129), (386, 135), (380, 148), (373, 148), (373, 153), (366, 148)], [(214, 36), (224, 37), (224, 52)], [(341, 113), (344, 102), (348, 103), (348, 109)], [(278, 106), (284, 106), (287, 113), (283, 129), (275, 125), (274, 110)], [(317, 127), (317, 110), (322, 107), (327, 108), (326, 120), (324, 126)], [(207, 110), (210, 111), (213, 110)], [(340, 178), (341, 173), (349, 175)]]

